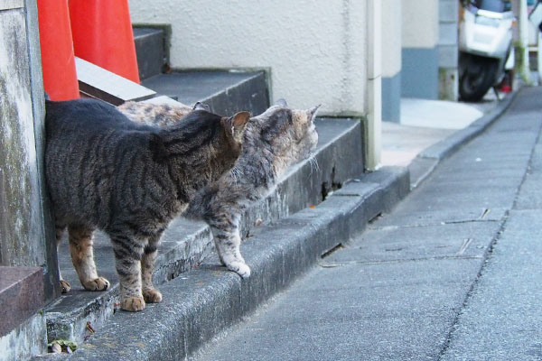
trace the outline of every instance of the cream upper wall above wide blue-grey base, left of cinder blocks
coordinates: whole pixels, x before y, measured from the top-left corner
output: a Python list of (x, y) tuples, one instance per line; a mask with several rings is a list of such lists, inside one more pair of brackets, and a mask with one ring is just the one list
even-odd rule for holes
[(402, 0), (403, 47), (433, 48), (438, 43), (437, 0)]

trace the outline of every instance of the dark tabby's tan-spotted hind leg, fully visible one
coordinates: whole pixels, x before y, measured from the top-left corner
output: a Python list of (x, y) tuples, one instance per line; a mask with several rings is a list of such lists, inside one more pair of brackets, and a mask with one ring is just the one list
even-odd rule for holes
[(74, 225), (68, 227), (71, 262), (85, 290), (104, 291), (109, 287), (109, 281), (104, 277), (99, 277), (96, 271), (92, 248), (93, 233), (94, 230), (89, 227)]

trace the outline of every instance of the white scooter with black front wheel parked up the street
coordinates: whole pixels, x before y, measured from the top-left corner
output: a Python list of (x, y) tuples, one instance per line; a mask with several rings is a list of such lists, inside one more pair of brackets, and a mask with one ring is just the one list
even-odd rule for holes
[(514, 22), (509, 3), (502, 0), (476, 0), (465, 6), (459, 26), (459, 95), (463, 100), (480, 100), (503, 79), (512, 52)]

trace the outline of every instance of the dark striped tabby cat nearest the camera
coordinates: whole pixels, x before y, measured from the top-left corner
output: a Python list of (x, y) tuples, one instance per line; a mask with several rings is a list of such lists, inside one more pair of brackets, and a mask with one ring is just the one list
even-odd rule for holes
[(109, 284), (92, 255), (92, 232), (100, 228), (115, 252), (121, 308), (162, 300), (152, 282), (160, 236), (198, 190), (232, 167), (248, 117), (195, 110), (160, 129), (97, 100), (46, 102), (45, 171), (57, 242), (68, 227), (72, 262), (87, 290)]

